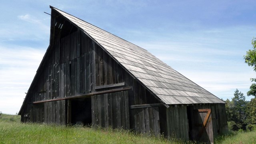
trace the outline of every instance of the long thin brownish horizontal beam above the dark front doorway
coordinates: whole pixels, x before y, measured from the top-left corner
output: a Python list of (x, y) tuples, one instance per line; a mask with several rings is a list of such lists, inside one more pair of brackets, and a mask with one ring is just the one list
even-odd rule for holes
[(92, 93), (81, 94), (81, 95), (77, 95), (77, 96), (68, 96), (65, 98), (55, 98), (55, 99), (51, 99), (51, 100), (40, 100), (40, 101), (33, 102), (33, 104), (38, 104), (38, 103), (42, 103), (42, 102), (53, 102), (53, 101), (58, 101), (58, 100), (68, 100), (68, 99), (75, 99), (75, 98), (89, 98), (90, 96), (94, 96), (94, 95), (98, 95), (98, 94), (108, 94), (108, 93), (112, 93), (112, 92), (120, 92), (120, 91), (130, 90), (130, 89), (131, 89), (130, 86), (125, 87), (125, 88), (116, 88), (116, 89), (112, 89), (112, 90), (92, 92)]

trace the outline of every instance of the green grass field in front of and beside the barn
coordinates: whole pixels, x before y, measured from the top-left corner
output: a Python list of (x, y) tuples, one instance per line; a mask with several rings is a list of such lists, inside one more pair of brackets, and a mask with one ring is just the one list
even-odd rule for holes
[[(0, 144), (183, 144), (134, 134), (126, 130), (102, 130), (82, 126), (57, 126), (20, 123), (20, 116), (2, 114), (0, 118)], [(194, 144), (194, 142), (186, 142)], [(231, 133), (218, 137), (217, 144), (256, 144), (256, 132)]]

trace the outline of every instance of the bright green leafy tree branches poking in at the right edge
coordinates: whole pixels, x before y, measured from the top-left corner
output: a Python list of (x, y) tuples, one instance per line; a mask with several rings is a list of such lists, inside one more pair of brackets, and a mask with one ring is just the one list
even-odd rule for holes
[[(252, 50), (248, 50), (244, 56), (245, 63), (248, 66), (252, 66), (253, 70), (256, 72), (256, 38), (252, 39)], [(251, 82), (256, 82), (256, 78), (251, 78)], [(250, 86), (250, 90), (247, 92), (248, 96), (256, 97), (256, 84)]]

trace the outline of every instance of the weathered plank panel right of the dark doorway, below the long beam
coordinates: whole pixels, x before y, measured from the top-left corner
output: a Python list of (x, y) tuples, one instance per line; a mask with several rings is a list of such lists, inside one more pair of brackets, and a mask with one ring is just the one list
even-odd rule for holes
[(128, 92), (92, 96), (92, 124), (130, 129)]

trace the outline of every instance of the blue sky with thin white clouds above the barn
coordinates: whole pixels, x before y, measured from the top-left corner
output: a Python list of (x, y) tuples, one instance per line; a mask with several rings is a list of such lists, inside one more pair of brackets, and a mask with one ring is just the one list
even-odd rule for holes
[[(226, 100), (256, 73), (255, 0), (6, 0), (0, 5), (0, 111), (20, 110), (49, 45), (49, 5), (132, 42)], [(246, 96), (246, 100), (252, 97)]]

